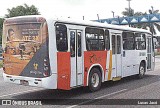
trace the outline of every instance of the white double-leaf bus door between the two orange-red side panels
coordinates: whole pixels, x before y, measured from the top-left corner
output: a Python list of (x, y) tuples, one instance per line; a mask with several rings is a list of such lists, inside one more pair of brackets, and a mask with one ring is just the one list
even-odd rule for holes
[(81, 30), (69, 30), (71, 53), (71, 87), (82, 85), (82, 45)]

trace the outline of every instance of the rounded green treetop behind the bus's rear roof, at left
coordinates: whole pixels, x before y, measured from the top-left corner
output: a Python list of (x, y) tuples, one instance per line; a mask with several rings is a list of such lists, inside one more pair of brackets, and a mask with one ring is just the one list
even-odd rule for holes
[(34, 6), (28, 6), (24, 4), (24, 6), (20, 5), (17, 7), (13, 7), (12, 9), (7, 9), (8, 14), (5, 15), (6, 18), (15, 17), (15, 16), (24, 16), (24, 15), (39, 15), (40, 12)]

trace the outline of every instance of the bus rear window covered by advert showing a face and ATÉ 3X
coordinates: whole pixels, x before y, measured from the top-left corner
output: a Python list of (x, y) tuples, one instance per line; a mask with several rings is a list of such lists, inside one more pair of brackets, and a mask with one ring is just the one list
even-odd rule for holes
[(41, 41), (40, 23), (36, 24), (18, 24), (6, 26), (5, 35), (9, 41)]

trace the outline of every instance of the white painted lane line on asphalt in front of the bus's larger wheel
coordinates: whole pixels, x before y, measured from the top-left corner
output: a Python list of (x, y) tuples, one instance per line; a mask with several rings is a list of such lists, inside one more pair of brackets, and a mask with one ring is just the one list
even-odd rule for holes
[[(110, 94), (107, 94), (107, 95), (99, 96), (99, 97), (94, 98), (94, 99), (101, 99), (101, 98), (104, 98), (104, 97), (107, 97), (107, 96), (110, 96), (110, 95), (114, 95), (114, 94), (117, 94), (117, 93), (121, 93), (121, 92), (126, 91), (126, 90), (127, 90), (127, 89), (122, 89), (122, 90), (120, 90), (120, 91), (116, 91), (116, 92), (113, 92), (113, 93), (110, 93)], [(77, 105), (72, 105), (72, 106), (69, 106), (69, 107), (67, 107), (67, 108), (74, 108), (74, 107), (76, 107), (76, 106), (78, 106), (78, 105), (82, 105), (82, 104), (85, 104), (85, 103), (88, 103), (88, 102), (92, 102), (94, 99), (91, 99), (91, 100), (85, 101), (85, 102), (81, 102), (81, 103), (79, 103), (79, 104), (77, 104)]]

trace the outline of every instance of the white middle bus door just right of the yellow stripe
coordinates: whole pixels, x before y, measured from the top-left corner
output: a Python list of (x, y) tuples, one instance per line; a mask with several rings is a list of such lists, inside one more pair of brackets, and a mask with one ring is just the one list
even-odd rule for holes
[(112, 77), (119, 80), (122, 77), (121, 34), (112, 34)]

